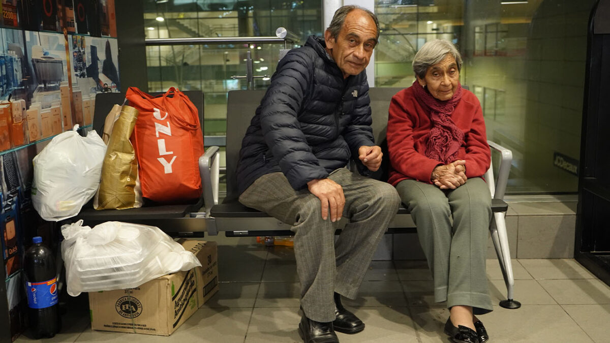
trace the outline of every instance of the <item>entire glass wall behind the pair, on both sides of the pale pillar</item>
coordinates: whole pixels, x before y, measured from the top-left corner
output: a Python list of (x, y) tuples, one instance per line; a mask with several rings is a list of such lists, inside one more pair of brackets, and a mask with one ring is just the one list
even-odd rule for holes
[[(509, 193), (576, 192), (587, 21), (594, 0), (376, 0), (375, 85), (409, 87), (411, 61), (443, 38), (462, 52), (462, 84), (481, 101), (488, 139), (511, 148)], [(147, 38), (273, 36), (279, 26), (322, 35), (321, 0), (146, 0)], [(283, 45), (254, 44), (254, 88)], [(226, 93), (246, 89), (248, 46), (147, 48), (149, 91), (203, 90), (205, 134), (224, 135)]]

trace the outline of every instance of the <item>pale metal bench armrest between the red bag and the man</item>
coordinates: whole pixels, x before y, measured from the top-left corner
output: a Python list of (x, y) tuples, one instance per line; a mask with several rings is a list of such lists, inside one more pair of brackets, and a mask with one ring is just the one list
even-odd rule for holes
[(203, 187), (203, 201), (206, 215), (218, 204), (218, 183), (220, 179), (220, 154), (218, 146), (210, 146), (206, 153), (199, 157), (199, 175)]

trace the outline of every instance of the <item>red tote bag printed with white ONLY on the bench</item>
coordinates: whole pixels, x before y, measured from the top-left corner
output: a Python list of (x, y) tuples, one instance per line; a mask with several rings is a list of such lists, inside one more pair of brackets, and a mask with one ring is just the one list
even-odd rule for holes
[(140, 111), (130, 140), (138, 158), (142, 197), (159, 203), (201, 197), (198, 162), (204, 148), (195, 105), (174, 87), (160, 96), (129, 87), (126, 98)]

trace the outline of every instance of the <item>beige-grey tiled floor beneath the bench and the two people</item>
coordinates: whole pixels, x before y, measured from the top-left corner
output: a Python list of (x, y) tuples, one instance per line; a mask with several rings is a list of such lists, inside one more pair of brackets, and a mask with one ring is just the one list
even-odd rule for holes
[[(242, 239), (235, 239), (236, 241)], [(242, 240), (242, 242), (244, 242)], [(169, 337), (92, 331), (87, 312), (66, 314), (49, 342), (300, 342), (298, 280), (292, 248), (219, 245), (220, 292)], [(610, 342), (610, 287), (573, 259), (515, 259), (520, 309), (494, 306), (481, 316), (490, 342)], [(494, 304), (505, 292), (498, 261), (487, 261)], [(449, 342), (448, 316), (434, 303), (424, 261), (375, 261), (356, 300), (367, 325), (341, 342)], [(27, 334), (17, 342), (30, 341)]]

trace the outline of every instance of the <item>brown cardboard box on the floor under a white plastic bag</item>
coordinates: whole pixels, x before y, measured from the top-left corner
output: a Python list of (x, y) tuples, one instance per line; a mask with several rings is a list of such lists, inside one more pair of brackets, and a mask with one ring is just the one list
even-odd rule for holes
[(169, 336), (218, 291), (216, 242), (182, 239), (202, 267), (148, 281), (140, 287), (89, 293), (93, 330)]

